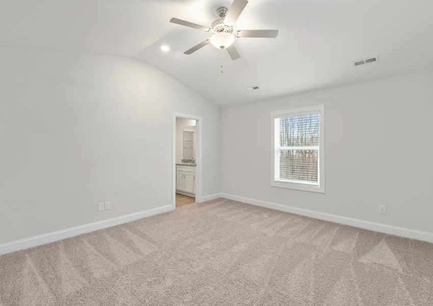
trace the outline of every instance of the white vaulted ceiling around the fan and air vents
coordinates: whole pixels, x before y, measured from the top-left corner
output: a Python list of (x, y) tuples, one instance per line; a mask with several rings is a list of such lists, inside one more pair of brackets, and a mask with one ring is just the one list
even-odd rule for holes
[[(431, 0), (250, 0), (236, 29), (279, 29), (276, 39), (237, 39), (237, 61), (212, 45), (184, 55), (209, 34), (168, 20), (210, 25), (230, 4), (0, 0), (0, 44), (134, 57), (221, 107), (433, 69)], [(376, 64), (351, 66), (375, 55)], [(261, 88), (247, 92), (252, 85)]]

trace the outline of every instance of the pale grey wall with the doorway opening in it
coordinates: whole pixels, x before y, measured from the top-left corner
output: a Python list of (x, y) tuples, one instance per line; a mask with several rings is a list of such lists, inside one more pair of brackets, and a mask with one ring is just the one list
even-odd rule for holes
[(171, 205), (173, 112), (202, 116), (219, 192), (220, 109), (155, 67), (6, 47), (0, 67), (0, 244)]

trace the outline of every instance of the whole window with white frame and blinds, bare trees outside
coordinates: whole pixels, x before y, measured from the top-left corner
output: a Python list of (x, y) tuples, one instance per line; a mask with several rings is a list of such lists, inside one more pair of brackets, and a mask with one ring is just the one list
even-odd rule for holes
[(325, 192), (323, 106), (271, 113), (271, 186)]

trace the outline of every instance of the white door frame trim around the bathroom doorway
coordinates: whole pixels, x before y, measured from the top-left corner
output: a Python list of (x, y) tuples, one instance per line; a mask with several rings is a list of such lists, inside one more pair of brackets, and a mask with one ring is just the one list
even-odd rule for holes
[(172, 146), (172, 198), (171, 206), (176, 208), (176, 118), (193, 119), (195, 121), (195, 202), (201, 202), (201, 126), (202, 119), (200, 116), (173, 113), (173, 146)]

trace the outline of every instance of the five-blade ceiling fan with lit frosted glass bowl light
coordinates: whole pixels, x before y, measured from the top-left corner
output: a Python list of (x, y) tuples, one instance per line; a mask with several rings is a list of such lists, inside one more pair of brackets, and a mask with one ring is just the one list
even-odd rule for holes
[(232, 60), (237, 60), (241, 56), (239, 55), (238, 50), (235, 47), (235, 39), (236, 38), (244, 38), (244, 37), (258, 37), (258, 38), (275, 38), (278, 35), (278, 30), (239, 30), (236, 31), (233, 29), (233, 25), (235, 24), (238, 17), (241, 15), (245, 6), (248, 4), (247, 0), (234, 0), (230, 10), (226, 7), (220, 7), (217, 10), (217, 14), (220, 19), (215, 20), (211, 27), (205, 27), (204, 25), (196, 24), (193, 22), (189, 22), (186, 20), (171, 18), (170, 22), (184, 25), (185, 27), (209, 32), (212, 36), (205, 41), (200, 42), (199, 44), (193, 46), (191, 49), (186, 50), (184, 54), (192, 54), (196, 52), (198, 49), (208, 45), (209, 43), (213, 44), (215, 47), (219, 49), (227, 49), (228, 54), (232, 58)]

